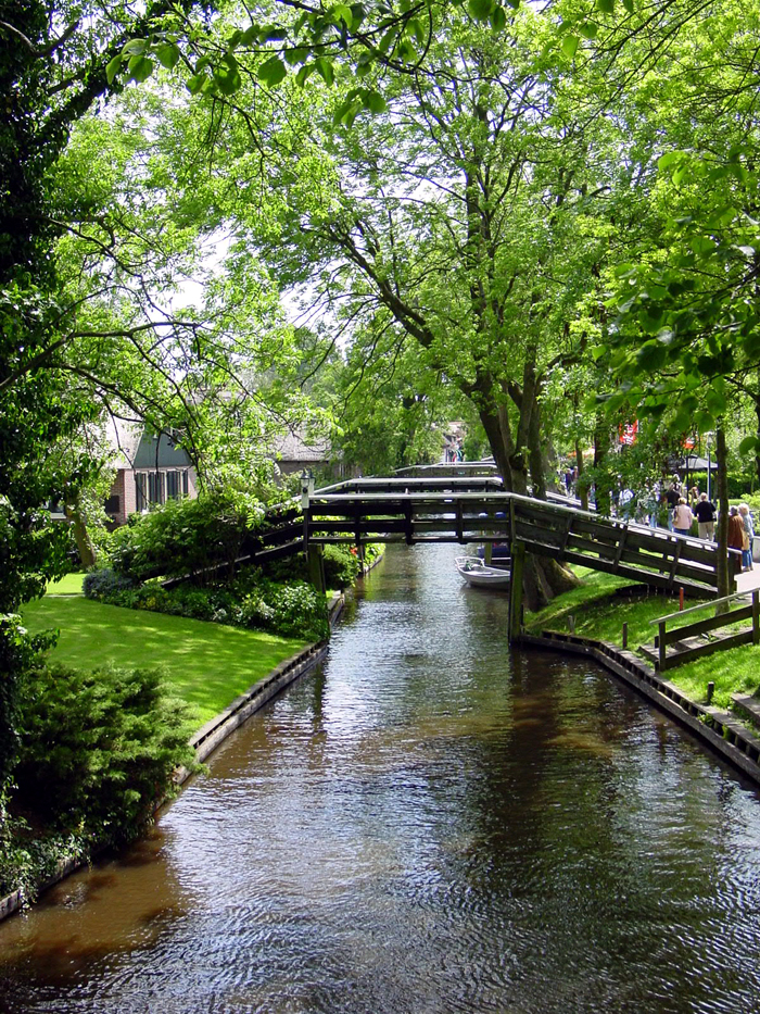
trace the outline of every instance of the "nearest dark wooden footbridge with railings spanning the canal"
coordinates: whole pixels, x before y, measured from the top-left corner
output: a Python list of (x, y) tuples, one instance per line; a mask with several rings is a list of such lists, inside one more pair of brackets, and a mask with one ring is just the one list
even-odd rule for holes
[(528, 552), (662, 591), (718, 594), (714, 543), (506, 492), (495, 475), (396, 475), (305, 490), (300, 506), (270, 514), (245, 553), (263, 562), (311, 550), (314, 560), (318, 547), (338, 542), (506, 542), (516, 563)]

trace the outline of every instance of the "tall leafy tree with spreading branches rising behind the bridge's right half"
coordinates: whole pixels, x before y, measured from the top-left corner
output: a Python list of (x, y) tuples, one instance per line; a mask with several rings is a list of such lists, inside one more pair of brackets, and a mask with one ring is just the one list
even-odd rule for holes
[[(258, 241), (283, 284), (311, 283), (357, 333), (403, 330), (418, 376), (444, 376), (476, 404), (508, 486), (542, 493), (542, 389), (586, 341), (566, 324), (604, 234), (591, 227), (588, 146), (559, 143), (567, 123), (535, 71), (535, 28), (525, 16), (505, 53), (489, 30), (449, 25), (371, 125), (344, 126), (351, 89), (327, 110), (289, 107), (270, 167), (282, 212)], [(237, 137), (228, 151), (242, 159)], [(563, 580), (542, 569), (537, 596)]]

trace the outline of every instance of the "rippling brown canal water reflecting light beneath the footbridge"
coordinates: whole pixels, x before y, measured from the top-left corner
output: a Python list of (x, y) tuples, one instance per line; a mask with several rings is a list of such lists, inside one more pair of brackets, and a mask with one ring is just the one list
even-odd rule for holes
[(592, 662), (392, 548), (324, 669), (0, 924), (3, 1012), (760, 1010), (760, 805)]

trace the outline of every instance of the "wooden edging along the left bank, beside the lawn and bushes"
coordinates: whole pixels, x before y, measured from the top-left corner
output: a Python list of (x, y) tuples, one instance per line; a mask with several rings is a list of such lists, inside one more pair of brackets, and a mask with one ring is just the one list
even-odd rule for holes
[[(328, 605), (330, 629), (332, 629), (338, 622), (344, 605), (345, 596), (342, 593), (335, 594), (330, 601)], [(313, 666), (321, 662), (327, 654), (328, 648), (329, 641), (318, 641), (313, 644), (307, 644), (301, 651), (296, 652), (296, 654), (291, 655), (290, 659), (280, 662), (268, 676), (265, 676), (264, 679), (259, 679), (258, 683), (249, 687), (244, 693), (236, 698), (224, 711), (219, 712), (218, 715), (201, 726), (190, 738), (190, 746), (195, 750), (195, 760), (199, 763), (205, 761), (219, 743), (239, 728), (246, 718), (250, 718), (254, 712), (263, 708), (278, 694), (280, 690), (283, 690)], [(187, 781), (190, 774), (191, 773), (186, 767), (180, 768), (175, 776), (177, 784), (182, 785)], [(153, 812), (160, 810), (165, 802), (166, 800), (156, 802)], [(48, 890), (48, 888), (59, 884), (71, 873), (85, 866), (90, 862), (92, 855), (97, 855), (97, 853), (98, 850), (94, 849), (87, 859), (77, 855), (67, 860), (61, 860), (55, 873), (38, 886), (38, 893)], [(13, 891), (5, 898), (0, 898), (0, 922), (22, 909), (25, 900), (23, 890)]]

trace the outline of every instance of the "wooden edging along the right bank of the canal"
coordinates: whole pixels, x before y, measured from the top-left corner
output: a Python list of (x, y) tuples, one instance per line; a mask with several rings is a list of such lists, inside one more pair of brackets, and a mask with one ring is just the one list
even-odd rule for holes
[(658, 676), (633, 652), (606, 641), (552, 630), (541, 635), (521, 634), (515, 643), (594, 659), (760, 785), (760, 739), (727, 712), (697, 704), (674, 684)]

